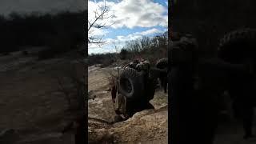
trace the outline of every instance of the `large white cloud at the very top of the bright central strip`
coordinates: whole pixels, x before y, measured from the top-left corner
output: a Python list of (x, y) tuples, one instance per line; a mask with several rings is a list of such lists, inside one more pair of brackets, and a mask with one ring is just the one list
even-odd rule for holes
[[(98, 5), (103, 4), (104, 2), (88, 2), (89, 20), (94, 18), (94, 10)], [(106, 6), (110, 7), (110, 15), (114, 15), (114, 18), (109, 18), (105, 22), (114, 22), (114, 28), (167, 26), (168, 23), (167, 8), (151, 0), (123, 0), (116, 3), (106, 1)]]

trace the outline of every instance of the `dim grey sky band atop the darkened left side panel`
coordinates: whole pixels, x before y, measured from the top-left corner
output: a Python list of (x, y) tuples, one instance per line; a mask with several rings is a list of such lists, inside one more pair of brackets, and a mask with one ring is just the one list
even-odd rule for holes
[(86, 7), (86, 0), (1, 0), (0, 14), (8, 15), (13, 11), (54, 13), (59, 10), (85, 10)]

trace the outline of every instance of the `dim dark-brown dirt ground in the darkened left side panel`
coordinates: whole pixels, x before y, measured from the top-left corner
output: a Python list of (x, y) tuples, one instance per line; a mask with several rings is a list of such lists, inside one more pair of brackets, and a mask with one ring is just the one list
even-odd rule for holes
[(38, 61), (34, 50), (0, 56), (0, 133), (14, 130), (0, 143), (74, 143), (72, 132), (61, 133), (75, 113), (67, 110), (70, 105), (59, 82), (74, 88), (63, 67), (77, 58), (76, 52)]

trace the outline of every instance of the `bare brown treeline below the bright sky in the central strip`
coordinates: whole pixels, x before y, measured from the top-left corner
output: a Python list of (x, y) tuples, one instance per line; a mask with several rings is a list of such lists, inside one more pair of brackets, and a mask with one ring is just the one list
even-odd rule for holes
[(102, 64), (102, 66), (109, 66), (117, 59), (131, 61), (134, 58), (146, 58), (152, 64), (160, 58), (167, 58), (167, 32), (162, 35), (154, 37), (143, 37), (130, 42), (122, 47), (120, 53), (113, 54), (90, 54), (88, 56), (89, 66), (95, 64)]

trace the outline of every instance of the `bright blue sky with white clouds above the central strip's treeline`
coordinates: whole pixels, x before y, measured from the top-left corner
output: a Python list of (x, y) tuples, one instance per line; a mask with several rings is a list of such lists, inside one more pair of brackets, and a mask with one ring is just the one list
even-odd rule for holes
[[(103, 0), (90, 0), (88, 2), (88, 21), (94, 20), (94, 11), (98, 6), (104, 5)], [(127, 41), (154, 36), (167, 31), (168, 27), (168, 1), (167, 0), (106, 0), (110, 8), (104, 20), (111, 24), (107, 29), (93, 29), (89, 36), (102, 38), (106, 42), (103, 46), (89, 44), (88, 54), (118, 52)], [(114, 48), (115, 46), (118, 48)]]

